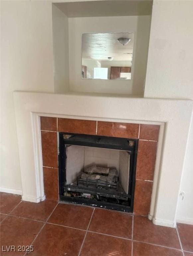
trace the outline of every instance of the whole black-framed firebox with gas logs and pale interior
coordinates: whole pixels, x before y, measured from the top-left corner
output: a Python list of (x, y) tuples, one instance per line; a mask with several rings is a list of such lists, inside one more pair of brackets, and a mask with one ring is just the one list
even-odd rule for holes
[(133, 212), (138, 140), (59, 133), (60, 201)]

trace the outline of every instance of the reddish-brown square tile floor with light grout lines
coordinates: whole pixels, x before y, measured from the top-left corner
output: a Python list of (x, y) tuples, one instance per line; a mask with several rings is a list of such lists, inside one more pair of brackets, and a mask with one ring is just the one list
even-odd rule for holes
[[(143, 216), (0, 196), (2, 256), (193, 256), (191, 225), (174, 229), (155, 226)], [(16, 251), (7, 251), (10, 245)], [(33, 251), (20, 252), (19, 245), (32, 245)]]

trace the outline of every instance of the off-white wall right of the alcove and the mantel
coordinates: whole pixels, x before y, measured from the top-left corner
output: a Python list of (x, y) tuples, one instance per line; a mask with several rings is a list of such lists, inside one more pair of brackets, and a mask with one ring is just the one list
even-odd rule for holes
[[(193, 99), (192, 10), (193, 1), (153, 2), (145, 97)], [(192, 145), (193, 122), (180, 188), (185, 197), (179, 198), (177, 210), (177, 220), (189, 223), (193, 223)]]

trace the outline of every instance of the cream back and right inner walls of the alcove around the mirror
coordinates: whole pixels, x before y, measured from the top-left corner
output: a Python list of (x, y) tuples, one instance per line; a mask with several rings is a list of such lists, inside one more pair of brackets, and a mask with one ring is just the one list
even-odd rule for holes
[[(143, 95), (150, 16), (69, 18), (70, 91)], [(82, 33), (135, 32), (133, 79), (81, 79)]]

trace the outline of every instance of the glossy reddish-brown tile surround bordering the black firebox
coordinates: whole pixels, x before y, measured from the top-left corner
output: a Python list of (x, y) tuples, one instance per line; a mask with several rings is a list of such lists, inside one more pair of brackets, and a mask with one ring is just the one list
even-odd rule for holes
[(148, 215), (159, 125), (41, 117), (44, 191), (58, 201), (57, 132), (139, 139), (134, 213)]

